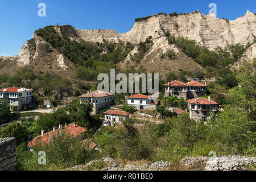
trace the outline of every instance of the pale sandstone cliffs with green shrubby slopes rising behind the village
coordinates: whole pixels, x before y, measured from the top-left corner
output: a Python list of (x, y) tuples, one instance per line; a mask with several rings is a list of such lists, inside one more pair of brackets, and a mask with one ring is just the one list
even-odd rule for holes
[[(49, 72), (68, 78), (73, 89), (82, 90), (95, 86), (98, 73), (110, 68), (155, 72), (163, 80), (170, 72), (188, 79), (221, 77), (222, 69), (236, 69), (255, 57), (255, 35), (256, 15), (250, 11), (236, 20), (200, 11), (159, 13), (135, 19), (133, 28), (122, 34), (48, 26), (35, 31), (19, 55), (0, 57), (0, 75), (13, 75), (25, 67), (35, 75)], [(2, 86), (13, 86), (0, 81)], [(73, 84), (77, 81), (87, 86)]]

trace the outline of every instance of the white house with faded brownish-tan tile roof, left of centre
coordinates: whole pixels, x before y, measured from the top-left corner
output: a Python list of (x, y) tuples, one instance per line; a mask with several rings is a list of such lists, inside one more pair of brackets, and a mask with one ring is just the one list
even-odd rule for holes
[(95, 90), (80, 96), (80, 104), (90, 102), (93, 104), (92, 114), (97, 114), (101, 109), (114, 105), (115, 97), (113, 93)]

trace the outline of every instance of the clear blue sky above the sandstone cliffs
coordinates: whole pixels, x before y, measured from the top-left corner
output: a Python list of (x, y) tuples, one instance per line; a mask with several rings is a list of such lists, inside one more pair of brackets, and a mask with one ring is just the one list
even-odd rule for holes
[[(38, 16), (38, 4), (46, 4), (46, 17)], [(209, 3), (216, 3), (217, 17), (236, 19), (247, 10), (256, 12), (255, 0), (0, 0), (0, 56), (18, 55), (20, 48), (38, 28), (71, 24), (75, 28), (129, 31), (134, 19), (163, 12), (208, 14)]]

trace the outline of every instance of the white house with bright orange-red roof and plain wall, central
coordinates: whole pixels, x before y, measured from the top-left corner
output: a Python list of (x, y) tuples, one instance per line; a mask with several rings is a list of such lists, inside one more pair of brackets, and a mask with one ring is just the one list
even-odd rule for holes
[(154, 100), (151, 100), (150, 96), (144, 94), (134, 94), (133, 96), (127, 97), (127, 105), (135, 106), (137, 110), (156, 108)]

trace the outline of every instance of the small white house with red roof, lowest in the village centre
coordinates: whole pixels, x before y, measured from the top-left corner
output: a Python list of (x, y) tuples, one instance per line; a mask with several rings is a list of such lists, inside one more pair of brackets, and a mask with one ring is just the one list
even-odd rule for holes
[(115, 123), (120, 124), (123, 120), (129, 118), (129, 114), (126, 111), (122, 110), (108, 110), (105, 113), (105, 121), (103, 122), (104, 126), (114, 126)]

